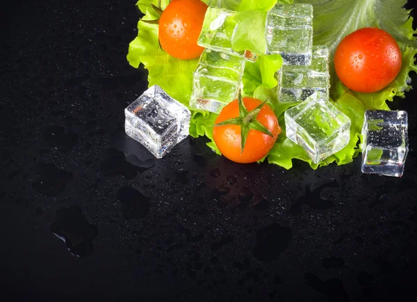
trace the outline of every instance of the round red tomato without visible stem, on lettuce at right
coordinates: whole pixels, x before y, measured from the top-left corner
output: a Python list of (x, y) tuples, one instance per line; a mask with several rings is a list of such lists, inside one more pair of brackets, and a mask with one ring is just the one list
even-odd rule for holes
[(400, 47), (389, 33), (366, 27), (343, 38), (334, 54), (334, 67), (348, 88), (375, 93), (397, 77), (401, 60)]

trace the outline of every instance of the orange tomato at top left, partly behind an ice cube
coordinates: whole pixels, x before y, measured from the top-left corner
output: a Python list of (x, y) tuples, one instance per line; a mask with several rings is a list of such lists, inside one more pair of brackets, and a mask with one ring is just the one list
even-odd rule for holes
[(159, 19), (159, 42), (174, 58), (198, 58), (204, 48), (197, 45), (207, 7), (200, 0), (172, 0)]

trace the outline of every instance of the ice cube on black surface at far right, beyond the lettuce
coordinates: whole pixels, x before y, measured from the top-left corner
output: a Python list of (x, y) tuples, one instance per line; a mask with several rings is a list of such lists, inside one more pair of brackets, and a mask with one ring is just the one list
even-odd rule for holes
[(401, 177), (408, 153), (406, 111), (367, 110), (362, 128), (362, 172)]

